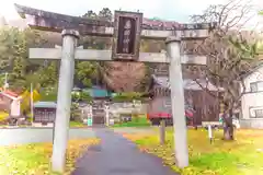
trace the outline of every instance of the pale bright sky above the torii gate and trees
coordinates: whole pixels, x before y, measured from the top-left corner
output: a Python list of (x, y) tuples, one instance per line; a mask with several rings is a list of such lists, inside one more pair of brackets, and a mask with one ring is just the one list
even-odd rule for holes
[[(137, 11), (146, 18), (159, 18), (187, 22), (188, 15), (202, 13), (209, 4), (226, 3), (228, 0), (2, 0), (0, 14), (7, 20), (18, 19), (14, 3), (58, 13), (81, 15), (88, 10), (95, 12), (107, 7), (111, 10)], [(253, 0), (262, 5), (263, 0)], [(261, 2), (262, 1), (262, 2)]]

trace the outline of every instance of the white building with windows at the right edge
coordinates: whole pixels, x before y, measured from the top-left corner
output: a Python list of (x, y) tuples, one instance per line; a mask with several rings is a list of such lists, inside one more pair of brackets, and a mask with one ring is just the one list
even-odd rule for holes
[(244, 78), (244, 85), (240, 125), (242, 128), (263, 129), (263, 66), (258, 67)]

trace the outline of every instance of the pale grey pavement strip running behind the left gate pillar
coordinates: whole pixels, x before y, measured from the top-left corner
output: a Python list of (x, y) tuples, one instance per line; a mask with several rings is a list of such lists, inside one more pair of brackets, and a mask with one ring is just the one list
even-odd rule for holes
[[(92, 128), (69, 129), (69, 139), (94, 137)], [(0, 129), (0, 145), (52, 142), (52, 128), (13, 128)]]

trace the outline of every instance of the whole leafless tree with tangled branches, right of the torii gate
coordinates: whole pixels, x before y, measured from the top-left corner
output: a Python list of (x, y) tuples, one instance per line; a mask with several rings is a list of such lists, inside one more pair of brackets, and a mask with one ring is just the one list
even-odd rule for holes
[[(231, 0), (225, 5), (210, 5), (201, 15), (193, 15), (196, 23), (216, 22), (208, 38), (198, 45), (198, 50), (207, 56), (208, 63), (202, 67), (201, 77), (195, 81), (207, 93), (225, 104), (224, 139), (233, 139), (232, 115), (240, 107), (240, 98), (245, 92), (244, 77), (261, 62), (256, 52), (258, 38), (254, 33), (242, 28), (255, 15), (253, 5), (243, 0)], [(211, 93), (201, 81), (213, 82), (220, 93)], [(204, 84), (204, 83), (203, 83)]]

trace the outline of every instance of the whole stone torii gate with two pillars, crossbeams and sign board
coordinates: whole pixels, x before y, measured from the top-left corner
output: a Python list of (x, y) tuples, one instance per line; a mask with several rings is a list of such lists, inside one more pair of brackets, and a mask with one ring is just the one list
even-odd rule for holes
[[(201, 39), (208, 36), (215, 24), (151, 25), (144, 21), (142, 13), (115, 11), (115, 21), (100, 21), (70, 16), (15, 4), (19, 14), (28, 21), (32, 28), (61, 32), (61, 48), (30, 48), (31, 59), (61, 59), (53, 170), (64, 172), (68, 141), (71, 89), (75, 59), (96, 61), (140, 61), (170, 63), (172, 115), (174, 125), (175, 159), (179, 167), (188, 165), (184, 93), (181, 63), (206, 65), (206, 57), (180, 54), (180, 40)], [(80, 35), (113, 37), (112, 50), (83, 49), (77, 47)], [(140, 38), (165, 39), (167, 52), (139, 52)]]

